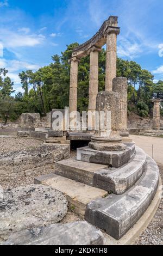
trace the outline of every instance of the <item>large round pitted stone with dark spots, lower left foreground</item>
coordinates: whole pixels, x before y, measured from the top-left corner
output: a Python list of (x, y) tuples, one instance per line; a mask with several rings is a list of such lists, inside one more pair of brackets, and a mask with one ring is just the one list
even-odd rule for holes
[(5, 190), (0, 198), (0, 242), (11, 233), (57, 223), (67, 214), (61, 192), (42, 185)]

